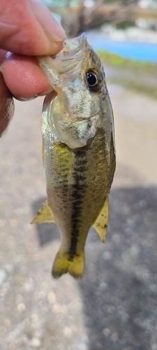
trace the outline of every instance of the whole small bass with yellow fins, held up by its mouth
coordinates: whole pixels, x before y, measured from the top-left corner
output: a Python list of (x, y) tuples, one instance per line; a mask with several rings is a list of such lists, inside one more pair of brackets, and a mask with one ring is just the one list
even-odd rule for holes
[(56, 57), (38, 57), (55, 90), (43, 104), (47, 200), (33, 224), (55, 222), (61, 246), (52, 276), (84, 272), (84, 244), (93, 225), (104, 242), (115, 171), (114, 119), (105, 72), (87, 35), (67, 39)]

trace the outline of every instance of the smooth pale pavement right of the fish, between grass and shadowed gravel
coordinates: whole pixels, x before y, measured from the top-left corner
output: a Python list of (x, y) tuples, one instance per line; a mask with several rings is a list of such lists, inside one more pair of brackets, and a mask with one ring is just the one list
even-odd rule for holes
[(147, 184), (157, 185), (157, 101), (110, 85), (117, 160), (134, 169)]

